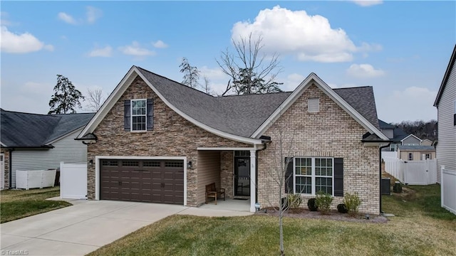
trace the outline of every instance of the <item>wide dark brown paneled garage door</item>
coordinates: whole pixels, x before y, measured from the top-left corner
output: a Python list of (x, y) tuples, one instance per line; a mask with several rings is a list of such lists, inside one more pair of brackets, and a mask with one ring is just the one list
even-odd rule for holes
[(184, 203), (184, 161), (100, 159), (100, 199)]

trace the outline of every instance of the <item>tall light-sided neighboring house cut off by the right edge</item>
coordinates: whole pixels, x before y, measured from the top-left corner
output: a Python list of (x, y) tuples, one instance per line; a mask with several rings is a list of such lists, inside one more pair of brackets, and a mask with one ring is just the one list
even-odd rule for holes
[[(437, 166), (456, 171), (456, 46), (450, 63), (437, 92), (434, 106), (437, 107), (438, 144)], [(437, 171), (440, 183), (440, 171)], [(455, 184), (456, 186), (456, 184)]]

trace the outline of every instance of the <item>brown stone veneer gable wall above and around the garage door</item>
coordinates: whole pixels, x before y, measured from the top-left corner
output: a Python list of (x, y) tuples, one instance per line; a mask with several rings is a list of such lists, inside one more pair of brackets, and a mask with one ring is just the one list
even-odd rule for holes
[[(182, 85), (183, 86), (183, 85)], [(154, 100), (154, 129), (125, 132), (123, 102), (131, 99)], [(88, 145), (88, 160), (95, 156), (187, 156), (187, 205), (197, 206), (197, 147), (251, 147), (209, 133), (171, 110), (139, 77), (115, 103), (93, 132), (98, 141)], [(88, 166), (88, 198), (95, 198), (95, 164)], [(228, 188), (228, 187), (227, 187)]]

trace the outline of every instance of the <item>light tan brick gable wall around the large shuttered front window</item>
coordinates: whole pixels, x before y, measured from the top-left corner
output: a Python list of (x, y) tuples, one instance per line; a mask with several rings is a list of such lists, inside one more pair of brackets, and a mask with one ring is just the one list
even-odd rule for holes
[[(307, 99), (319, 97), (320, 110), (307, 112)], [(282, 132), (280, 132), (282, 131)], [(363, 203), (361, 213), (378, 214), (379, 174), (378, 146), (363, 146), (361, 139), (367, 131), (333, 102), (316, 85), (311, 85), (303, 95), (264, 133), (271, 136), (271, 144), (259, 151), (258, 199), (262, 206), (279, 205), (279, 186), (276, 184), (274, 166), (279, 160), (280, 133), (283, 134), (284, 156), (331, 156), (343, 158), (343, 191), (358, 192)], [(291, 145), (291, 147), (289, 146)], [(276, 150), (277, 149), (277, 150)], [(279, 163), (283, 163), (280, 159)], [(283, 191), (284, 192), (284, 191)], [(307, 198), (302, 196), (302, 206)], [(332, 208), (341, 203), (335, 197)]]

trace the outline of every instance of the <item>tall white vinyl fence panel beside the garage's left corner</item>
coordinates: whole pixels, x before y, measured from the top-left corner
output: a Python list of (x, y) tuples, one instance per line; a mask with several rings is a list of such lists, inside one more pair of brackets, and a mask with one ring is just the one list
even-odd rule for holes
[(60, 198), (86, 199), (87, 164), (60, 163)]

